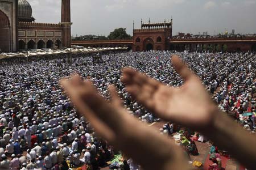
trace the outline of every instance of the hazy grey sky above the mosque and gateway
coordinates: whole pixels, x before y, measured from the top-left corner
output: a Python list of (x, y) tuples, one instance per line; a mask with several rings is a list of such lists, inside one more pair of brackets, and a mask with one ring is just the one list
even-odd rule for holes
[[(36, 22), (59, 23), (61, 0), (27, 0)], [(256, 33), (256, 0), (71, 0), (72, 35), (105, 35), (114, 28), (128, 33), (146, 22), (174, 19), (177, 32)]]

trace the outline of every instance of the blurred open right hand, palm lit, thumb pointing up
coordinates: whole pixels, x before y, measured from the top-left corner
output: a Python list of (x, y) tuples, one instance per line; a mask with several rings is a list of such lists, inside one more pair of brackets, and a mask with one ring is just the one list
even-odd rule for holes
[(160, 118), (205, 130), (211, 125), (217, 108), (200, 79), (178, 56), (171, 59), (177, 73), (185, 80), (180, 88), (168, 87), (133, 69), (123, 69), (122, 82), (132, 97)]

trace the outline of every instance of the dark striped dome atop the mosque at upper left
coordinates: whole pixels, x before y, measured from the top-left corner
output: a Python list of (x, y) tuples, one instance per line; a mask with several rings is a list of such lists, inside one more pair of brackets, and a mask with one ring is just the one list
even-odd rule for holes
[(19, 0), (18, 2), (18, 18), (19, 22), (34, 22), (35, 19), (32, 16), (32, 7), (26, 0)]

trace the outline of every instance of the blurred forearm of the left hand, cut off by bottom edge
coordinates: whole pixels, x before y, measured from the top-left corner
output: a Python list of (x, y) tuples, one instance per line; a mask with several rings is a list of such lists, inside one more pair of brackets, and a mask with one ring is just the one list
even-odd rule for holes
[(144, 169), (190, 169), (181, 148), (153, 128), (130, 120), (123, 130), (125, 136), (119, 137), (119, 142), (126, 145), (119, 148)]

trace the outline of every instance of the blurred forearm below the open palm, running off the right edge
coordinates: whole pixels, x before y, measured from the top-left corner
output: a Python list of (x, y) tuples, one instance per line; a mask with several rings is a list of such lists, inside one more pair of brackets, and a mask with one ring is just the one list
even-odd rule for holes
[(241, 128), (225, 113), (217, 113), (212, 128), (205, 135), (214, 142), (214, 145), (227, 150), (247, 168), (256, 167), (256, 137)]

